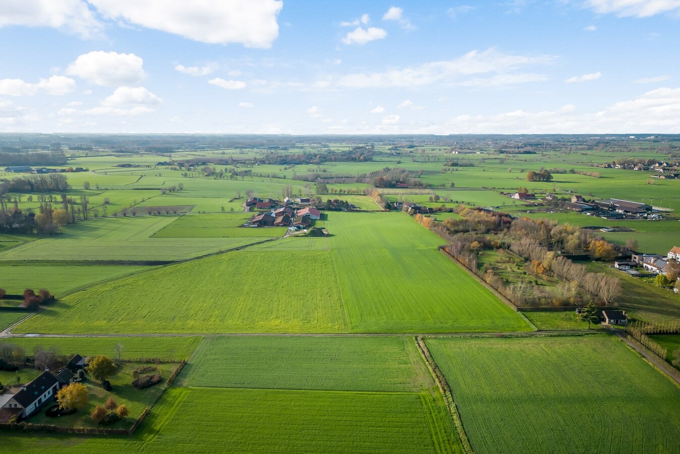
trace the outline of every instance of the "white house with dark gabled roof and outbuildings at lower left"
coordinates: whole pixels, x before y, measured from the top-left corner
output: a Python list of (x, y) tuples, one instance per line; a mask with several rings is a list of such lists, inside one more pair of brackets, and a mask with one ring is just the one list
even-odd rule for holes
[[(56, 373), (46, 369), (36, 379), (18, 387), (18, 389), (5, 389), (0, 394), (0, 421), (5, 419), (25, 419), (36, 413), (45, 402), (53, 402), (56, 392), (75, 379), (78, 370), (84, 370), (85, 359), (81, 355), (75, 355), (65, 367)], [(81, 372), (82, 373), (82, 372)]]

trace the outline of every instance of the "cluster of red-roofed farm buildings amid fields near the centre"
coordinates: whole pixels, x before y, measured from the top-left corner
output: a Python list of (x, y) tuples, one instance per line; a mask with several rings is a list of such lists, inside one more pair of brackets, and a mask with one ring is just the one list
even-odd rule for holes
[[(260, 210), (246, 224), (248, 227), (288, 227), (293, 230), (311, 226), (312, 221), (321, 219), (321, 211), (310, 207), (309, 198), (292, 200), (286, 197), (283, 202), (271, 198), (249, 198), (244, 207)], [(262, 211), (265, 210), (265, 211)]]

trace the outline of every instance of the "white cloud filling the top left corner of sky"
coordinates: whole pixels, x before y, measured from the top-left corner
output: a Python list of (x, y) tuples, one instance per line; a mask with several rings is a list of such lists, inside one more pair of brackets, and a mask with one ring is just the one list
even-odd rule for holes
[(84, 39), (103, 35), (103, 25), (82, 0), (0, 1), (0, 27), (49, 27)]

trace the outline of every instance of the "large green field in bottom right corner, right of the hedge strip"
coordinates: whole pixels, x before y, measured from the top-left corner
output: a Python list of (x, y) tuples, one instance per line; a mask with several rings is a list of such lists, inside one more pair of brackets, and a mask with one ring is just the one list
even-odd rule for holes
[(611, 336), (426, 343), (476, 453), (673, 452), (680, 442), (680, 389)]

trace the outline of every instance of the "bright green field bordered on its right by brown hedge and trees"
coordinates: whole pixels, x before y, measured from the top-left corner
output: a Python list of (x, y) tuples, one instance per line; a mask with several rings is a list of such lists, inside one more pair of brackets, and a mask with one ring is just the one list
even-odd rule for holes
[(331, 254), (356, 332), (530, 330), (437, 251), (441, 239), (402, 213), (329, 213)]

